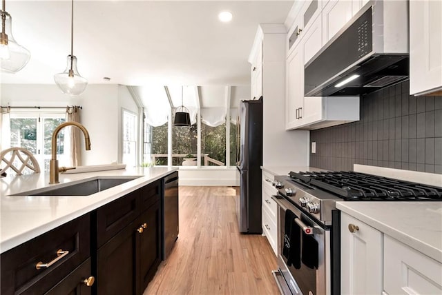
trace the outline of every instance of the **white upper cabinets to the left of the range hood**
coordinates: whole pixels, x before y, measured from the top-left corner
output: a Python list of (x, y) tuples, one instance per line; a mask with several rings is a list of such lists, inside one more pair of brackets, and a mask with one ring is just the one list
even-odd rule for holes
[[(327, 6), (334, 2), (336, 1), (330, 0)], [(286, 63), (286, 130), (313, 130), (359, 120), (358, 96), (304, 96), (304, 66), (324, 45), (324, 17), (321, 14), (323, 11), (321, 7), (321, 1), (307, 2), (302, 6), (289, 30)], [(349, 18), (351, 18), (352, 5), (349, 7)], [(305, 23), (306, 20), (308, 21)], [(298, 30), (303, 23), (306, 26)], [(345, 22), (340, 26), (344, 24)]]

